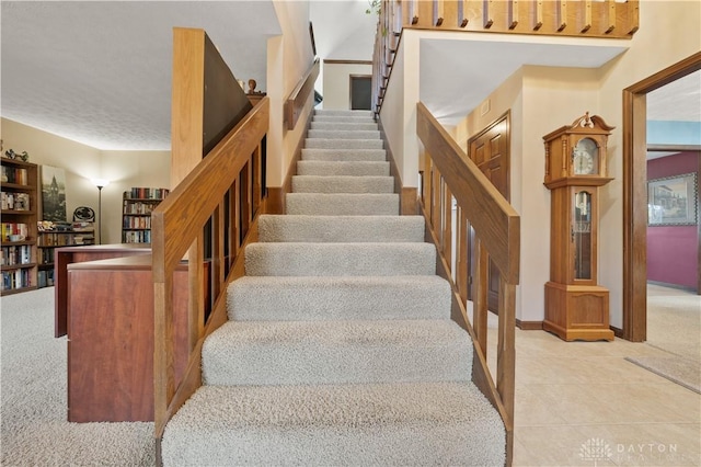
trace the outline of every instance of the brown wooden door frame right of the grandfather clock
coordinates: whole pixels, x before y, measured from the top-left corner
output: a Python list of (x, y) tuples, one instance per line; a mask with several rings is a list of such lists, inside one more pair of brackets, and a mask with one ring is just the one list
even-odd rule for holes
[(647, 338), (647, 93), (701, 69), (701, 52), (623, 90), (623, 329)]

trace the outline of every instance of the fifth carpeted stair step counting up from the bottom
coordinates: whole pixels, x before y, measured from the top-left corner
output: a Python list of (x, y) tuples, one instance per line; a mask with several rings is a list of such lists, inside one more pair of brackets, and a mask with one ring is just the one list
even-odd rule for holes
[(423, 216), (289, 216), (262, 215), (258, 241), (423, 242)]

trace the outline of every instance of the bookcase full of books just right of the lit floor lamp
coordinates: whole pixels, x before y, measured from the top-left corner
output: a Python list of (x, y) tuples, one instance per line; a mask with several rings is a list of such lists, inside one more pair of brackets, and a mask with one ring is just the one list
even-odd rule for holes
[(122, 202), (122, 242), (151, 242), (151, 213), (168, 195), (166, 189), (133, 187)]

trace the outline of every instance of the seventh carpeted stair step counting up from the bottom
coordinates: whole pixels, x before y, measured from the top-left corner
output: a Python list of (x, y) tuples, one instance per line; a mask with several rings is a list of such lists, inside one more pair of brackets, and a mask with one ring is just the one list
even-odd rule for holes
[(295, 193), (394, 193), (394, 178), (380, 175), (294, 175)]

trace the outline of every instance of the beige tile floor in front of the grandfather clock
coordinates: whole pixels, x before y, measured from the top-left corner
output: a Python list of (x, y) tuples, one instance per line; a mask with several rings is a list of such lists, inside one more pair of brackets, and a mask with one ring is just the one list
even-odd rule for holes
[(624, 360), (659, 352), (517, 329), (514, 466), (701, 465), (701, 395)]

